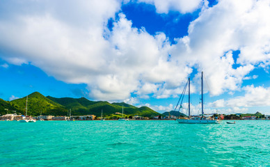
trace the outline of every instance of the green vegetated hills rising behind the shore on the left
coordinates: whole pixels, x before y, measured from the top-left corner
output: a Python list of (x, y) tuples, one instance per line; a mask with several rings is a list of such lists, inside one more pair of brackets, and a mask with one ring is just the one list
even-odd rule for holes
[[(84, 97), (81, 98), (55, 98), (51, 96), (45, 97), (44, 95), (35, 92), (28, 95), (27, 103), (27, 115), (39, 116), (67, 116), (67, 111), (71, 109), (72, 116), (84, 116), (93, 114), (97, 117), (101, 116), (101, 111), (103, 111), (103, 117), (106, 118), (119, 118), (122, 115), (117, 115), (116, 113), (122, 113), (122, 106), (124, 108), (124, 116), (144, 116), (153, 117), (159, 116), (160, 113), (153, 111), (152, 109), (142, 106), (140, 108), (132, 106), (130, 104), (122, 103), (112, 103), (109, 102), (93, 102), (87, 100)], [(6, 114), (8, 111), (17, 111), (17, 113), (25, 114), (26, 108), (26, 97), (21, 99), (13, 100), (11, 102), (6, 102), (0, 99), (0, 114)], [(8, 110), (7, 110), (8, 109)], [(14, 112), (13, 112), (14, 113)]]

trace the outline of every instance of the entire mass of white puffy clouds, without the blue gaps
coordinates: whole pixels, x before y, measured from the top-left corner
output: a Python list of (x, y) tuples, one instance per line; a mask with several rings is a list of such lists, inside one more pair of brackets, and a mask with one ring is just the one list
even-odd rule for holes
[[(87, 84), (93, 99), (136, 102), (131, 93), (143, 98), (176, 97), (193, 67), (205, 72), (212, 95), (233, 94), (256, 65), (269, 65), (267, 0), (221, 0), (212, 8), (198, 0), (138, 1), (153, 4), (158, 13), (201, 9), (189, 24), (189, 34), (175, 39), (175, 45), (165, 33), (150, 35), (135, 28), (125, 13), (115, 18), (128, 1), (26, 2), (1, 3), (1, 58), (15, 65), (31, 63), (67, 83)], [(115, 22), (110, 31), (111, 18)], [(235, 62), (232, 54), (237, 50)], [(200, 72), (194, 81), (199, 77)]]

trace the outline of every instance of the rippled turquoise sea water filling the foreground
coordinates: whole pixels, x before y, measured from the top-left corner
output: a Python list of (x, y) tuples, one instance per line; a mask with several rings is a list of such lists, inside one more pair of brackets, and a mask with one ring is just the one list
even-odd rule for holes
[(270, 120), (0, 121), (0, 166), (270, 166)]

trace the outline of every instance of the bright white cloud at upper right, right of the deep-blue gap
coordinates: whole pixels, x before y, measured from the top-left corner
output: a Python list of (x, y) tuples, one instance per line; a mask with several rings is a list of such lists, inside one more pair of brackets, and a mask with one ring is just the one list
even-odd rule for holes
[[(255, 65), (269, 62), (269, 3), (226, 0), (204, 8), (189, 25), (189, 35), (176, 39), (172, 60), (204, 71), (212, 95), (239, 90)], [(232, 51), (237, 50), (240, 54), (235, 62)], [(239, 67), (234, 68), (235, 63)]]

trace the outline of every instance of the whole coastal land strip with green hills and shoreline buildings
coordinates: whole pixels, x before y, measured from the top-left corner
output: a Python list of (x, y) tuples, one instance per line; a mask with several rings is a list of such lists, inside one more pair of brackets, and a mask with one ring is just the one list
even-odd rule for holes
[[(27, 115), (26, 101), (28, 100)], [(166, 111), (158, 113), (147, 106), (136, 107), (124, 102), (109, 103), (90, 101), (84, 97), (56, 98), (35, 92), (12, 101), (1, 100), (0, 120), (22, 120), (33, 118), (35, 120), (175, 120), (186, 115), (179, 111)], [(122, 114), (122, 109), (124, 113)], [(103, 115), (102, 115), (103, 111)], [(72, 116), (70, 115), (72, 113)], [(221, 114), (204, 114), (204, 117), (220, 117)], [(256, 113), (223, 114), (224, 120), (269, 120), (268, 115)]]

